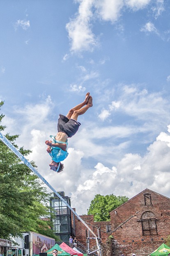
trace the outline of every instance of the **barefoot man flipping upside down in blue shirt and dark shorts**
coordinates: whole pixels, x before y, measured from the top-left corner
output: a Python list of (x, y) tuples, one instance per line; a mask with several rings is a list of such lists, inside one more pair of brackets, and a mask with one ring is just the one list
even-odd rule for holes
[(85, 100), (78, 104), (76, 107), (69, 110), (67, 116), (62, 114), (59, 115), (57, 123), (57, 135), (50, 137), (53, 140), (46, 140), (47, 152), (51, 156), (51, 163), (49, 164), (50, 169), (56, 172), (63, 170), (64, 165), (60, 161), (63, 161), (67, 156), (67, 138), (72, 137), (81, 125), (77, 119), (78, 116), (83, 115), (87, 109), (92, 107), (92, 96), (87, 92)]

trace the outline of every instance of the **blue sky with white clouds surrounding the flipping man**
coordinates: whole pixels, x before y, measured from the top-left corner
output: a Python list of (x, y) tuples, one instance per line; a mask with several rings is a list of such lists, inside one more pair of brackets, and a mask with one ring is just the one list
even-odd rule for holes
[[(170, 197), (169, 17), (168, 0), (0, 1), (4, 134), (79, 215), (96, 194)], [(55, 173), (45, 140), (87, 92), (93, 107)]]

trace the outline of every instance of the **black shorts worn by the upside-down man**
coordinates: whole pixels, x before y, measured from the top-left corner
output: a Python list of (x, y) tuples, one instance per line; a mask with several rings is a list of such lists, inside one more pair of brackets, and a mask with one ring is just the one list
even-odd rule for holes
[(80, 125), (81, 124), (78, 121), (68, 119), (67, 116), (60, 114), (57, 123), (57, 130), (58, 132), (66, 133), (70, 138), (78, 131)]

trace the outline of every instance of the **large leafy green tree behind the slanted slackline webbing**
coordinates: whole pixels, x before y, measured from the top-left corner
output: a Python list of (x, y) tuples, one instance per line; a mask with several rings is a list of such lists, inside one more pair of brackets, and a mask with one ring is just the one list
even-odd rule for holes
[[(4, 102), (0, 102), (0, 109)], [(0, 115), (0, 131), (3, 114)], [(6, 134), (7, 139), (16, 147), (18, 135)], [(19, 149), (23, 156), (30, 150)], [(31, 163), (34, 167), (34, 162)], [(50, 217), (49, 198), (44, 184), (20, 159), (0, 141), (0, 238), (20, 235), (21, 231), (34, 231), (55, 237), (50, 221), (41, 217)]]

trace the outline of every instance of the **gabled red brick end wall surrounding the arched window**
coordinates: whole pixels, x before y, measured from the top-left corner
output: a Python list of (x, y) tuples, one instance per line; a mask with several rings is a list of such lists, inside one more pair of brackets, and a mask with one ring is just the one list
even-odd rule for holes
[[(146, 201), (145, 194), (150, 195)], [(150, 204), (149, 204), (150, 201)], [(110, 213), (112, 235), (120, 253), (148, 255), (170, 235), (170, 199), (151, 190), (144, 190)], [(142, 216), (156, 218), (158, 235), (143, 235)]]

